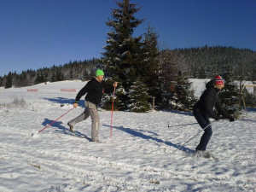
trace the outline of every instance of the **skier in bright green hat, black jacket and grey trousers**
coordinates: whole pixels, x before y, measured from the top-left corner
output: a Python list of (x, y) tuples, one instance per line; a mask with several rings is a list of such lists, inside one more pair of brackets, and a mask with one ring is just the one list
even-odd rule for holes
[(104, 72), (100, 69), (96, 70), (96, 77), (91, 79), (82, 90), (79, 90), (78, 95), (73, 102), (73, 108), (79, 106), (79, 100), (82, 96), (85, 96), (85, 109), (84, 113), (81, 113), (75, 119), (70, 120), (67, 125), (69, 125), (70, 131), (74, 132), (73, 125), (87, 119), (89, 116), (91, 118), (91, 140), (93, 142), (99, 142), (98, 131), (100, 125), (100, 117), (97, 112), (97, 106), (102, 102), (103, 93), (113, 92), (113, 88), (117, 86), (117, 82), (113, 83), (113, 86), (109, 86), (103, 80)]

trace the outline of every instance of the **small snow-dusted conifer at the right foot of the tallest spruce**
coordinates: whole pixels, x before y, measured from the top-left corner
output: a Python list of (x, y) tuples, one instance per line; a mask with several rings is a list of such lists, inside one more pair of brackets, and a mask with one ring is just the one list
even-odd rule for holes
[(137, 79), (137, 81), (131, 85), (131, 90), (129, 90), (128, 95), (131, 112), (148, 112), (150, 110), (148, 97), (148, 88), (146, 87), (146, 84), (143, 84), (140, 79)]

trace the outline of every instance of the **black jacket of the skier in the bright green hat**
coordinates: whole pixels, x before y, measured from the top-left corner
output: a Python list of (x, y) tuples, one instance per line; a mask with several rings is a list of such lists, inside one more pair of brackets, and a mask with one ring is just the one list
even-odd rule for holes
[(105, 92), (108, 94), (113, 92), (113, 86), (106, 84), (104, 80), (99, 82), (93, 78), (87, 84), (85, 84), (82, 90), (79, 90), (75, 101), (79, 102), (80, 98), (87, 93), (85, 100), (99, 105), (102, 102), (102, 96)]

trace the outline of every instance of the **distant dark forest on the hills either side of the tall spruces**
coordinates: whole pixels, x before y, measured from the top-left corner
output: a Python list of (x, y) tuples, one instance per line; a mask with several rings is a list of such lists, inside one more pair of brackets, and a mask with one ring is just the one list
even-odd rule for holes
[[(165, 52), (167, 50), (162, 50)], [(250, 49), (232, 47), (201, 47), (172, 49), (175, 61), (182, 60), (188, 66), (188, 78), (212, 79), (214, 74), (232, 71), (236, 79), (256, 81), (256, 52)], [(158, 56), (158, 61), (161, 55)], [(9, 72), (0, 76), (0, 86), (5, 88), (23, 87), (44, 82), (61, 80), (89, 80), (96, 68), (104, 68), (101, 59), (70, 61), (60, 66), (44, 67), (38, 70), (27, 69), (22, 73)]]

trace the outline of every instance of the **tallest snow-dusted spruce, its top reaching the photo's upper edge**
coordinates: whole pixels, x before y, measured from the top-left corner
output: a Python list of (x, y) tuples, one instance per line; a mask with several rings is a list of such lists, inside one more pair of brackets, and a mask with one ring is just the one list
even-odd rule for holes
[[(111, 27), (108, 32), (107, 45), (102, 53), (102, 61), (107, 65), (108, 74), (113, 80), (125, 89), (125, 95), (120, 97), (124, 108), (127, 108), (127, 93), (131, 85), (139, 76), (139, 65), (141, 64), (141, 39), (132, 37), (134, 28), (139, 26), (143, 20), (135, 18), (135, 14), (141, 8), (130, 0), (117, 2), (118, 9), (113, 9), (113, 19), (108, 19), (107, 26)], [(119, 95), (117, 94), (119, 97)]]

